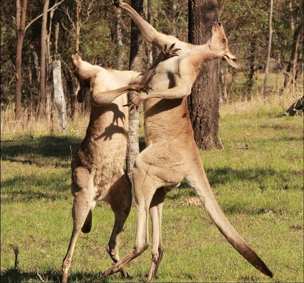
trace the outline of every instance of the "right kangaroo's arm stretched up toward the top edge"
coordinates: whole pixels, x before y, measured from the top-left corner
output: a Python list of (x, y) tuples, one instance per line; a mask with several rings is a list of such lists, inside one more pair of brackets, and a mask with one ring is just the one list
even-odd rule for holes
[(172, 45), (174, 43), (179, 42), (179, 40), (171, 35), (165, 35), (161, 32), (158, 32), (153, 26), (151, 26), (148, 22), (146, 22), (131, 6), (128, 4), (121, 2), (120, 0), (114, 0), (114, 6), (123, 9), (128, 13), (129, 16), (134, 20), (139, 30), (145, 37), (145, 39), (161, 49), (164, 45)]

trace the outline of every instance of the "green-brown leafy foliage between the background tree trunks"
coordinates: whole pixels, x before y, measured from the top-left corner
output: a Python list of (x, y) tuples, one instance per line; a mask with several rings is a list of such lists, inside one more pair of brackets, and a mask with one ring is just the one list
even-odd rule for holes
[[(116, 32), (116, 9), (112, 0), (78, 0), (81, 2), (79, 55), (84, 60), (104, 67), (128, 69), (131, 19), (124, 13), (121, 18), (122, 47), (118, 48)], [(58, 2), (58, 1), (57, 1)], [(50, 7), (55, 3), (50, 0)], [(26, 25), (43, 12), (41, 1), (28, 1)], [(263, 0), (218, 0), (219, 20), (223, 22), (232, 53), (243, 62), (241, 72), (246, 77), (247, 92), (254, 87), (258, 70), (264, 71), (268, 47), (268, 20), (270, 1)], [(285, 73), (290, 60), (296, 59), (297, 77), (303, 70), (303, 33), (297, 37), (298, 45), (294, 59), (294, 32), (303, 22), (303, 0), (277, 0), (273, 11), (273, 42), (271, 71)], [(144, 6), (147, 17), (147, 5)], [(73, 96), (69, 86), (73, 80), (70, 56), (76, 46), (77, 1), (65, 0), (54, 12), (50, 34), (52, 59), (62, 61), (63, 88), (67, 100)], [(48, 17), (48, 28), (50, 15)], [(163, 33), (177, 36), (183, 41), (188, 38), (188, 0), (151, 1), (151, 23)], [(42, 18), (27, 29), (22, 49), (22, 113), (35, 114), (40, 99), (40, 56)], [(55, 54), (56, 26), (58, 32), (58, 54)], [(1, 2), (1, 107), (5, 109), (15, 101), (16, 83), (16, 3)], [(49, 30), (48, 30), (49, 32)], [(144, 42), (145, 49), (151, 48)], [(143, 59), (143, 69), (149, 64), (148, 52)], [(118, 60), (119, 59), (119, 60)], [(118, 62), (120, 66), (118, 66)], [(122, 62), (122, 63), (121, 63)], [(228, 72), (234, 74), (232, 68)], [(290, 72), (291, 73), (291, 72)], [(51, 80), (52, 76), (48, 78)], [(84, 106), (86, 104), (84, 103)], [(85, 109), (81, 106), (82, 110)], [(67, 103), (71, 113), (71, 103)], [(83, 108), (84, 107), (84, 108)]]

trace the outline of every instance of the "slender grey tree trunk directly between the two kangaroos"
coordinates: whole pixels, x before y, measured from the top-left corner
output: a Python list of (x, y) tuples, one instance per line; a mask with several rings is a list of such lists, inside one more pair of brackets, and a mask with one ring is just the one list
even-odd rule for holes
[[(143, 0), (132, 0), (132, 7), (137, 11), (137, 13), (143, 16), (144, 3)], [(130, 51), (130, 63), (129, 69), (134, 71), (142, 70), (142, 57), (143, 57), (143, 36), (140, 33), (138, 27), (135, 23), (131, 22), (131, 51)], [(128, 100), (137, 95), (136, 92), (129, 92)], [(132, 181), (132, 168), (136, 156), (139, 154), (139, 139), (138, 139), (138, 129), (139, 129), (139, 111), (133, 109), (129, 113), (129, 131), (127, 135), (127, 153), (126, 153), (126, 172)], [(133, 194), (134, 196), (134, 194)], [(133, 197), (134, 200), (134, 197)], [(134, 203), (134, 201), (133, 201)]]

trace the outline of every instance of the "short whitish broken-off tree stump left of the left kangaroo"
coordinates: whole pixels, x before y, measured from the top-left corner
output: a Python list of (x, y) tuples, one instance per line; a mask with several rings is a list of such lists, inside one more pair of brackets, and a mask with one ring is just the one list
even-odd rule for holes
[(65, 98), (62, 88), (61, 79), (61, 62), (60, 60), (53, 61), (53, 82), (54, 82), (54, 97), (56, 104), (56, 114), (58, 131), (60, 133), (67, 133), (67, 117), (66, 117), (66, 106)]

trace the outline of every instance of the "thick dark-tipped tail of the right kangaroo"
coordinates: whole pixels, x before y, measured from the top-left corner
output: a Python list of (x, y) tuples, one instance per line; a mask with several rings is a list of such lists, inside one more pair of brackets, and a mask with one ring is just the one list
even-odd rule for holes
[[(239, 233), (232, 227), (230, 222), (227, 220), (218, 202), (216, 201), (214, 194), (210, 188), (207, 177), (203, 172), (203, 179), (201, 176), (200, 184), (197, 185), (198, 178), (189, 180), (189, 184), (197, 192), (202, 204), (204, 205), (207, 213), (213, 220), (216, 226), (220, 229), (222, 234), (230, 242), (230, 244), (255, 268), (260, 272), (272, 277), (272, 272), (268, 269), (266, 264), (256, 255), (256, 253), (247, 245), (245, 240), (239, 235)], [(201, 184), (204, 184), (202, 187)]]

